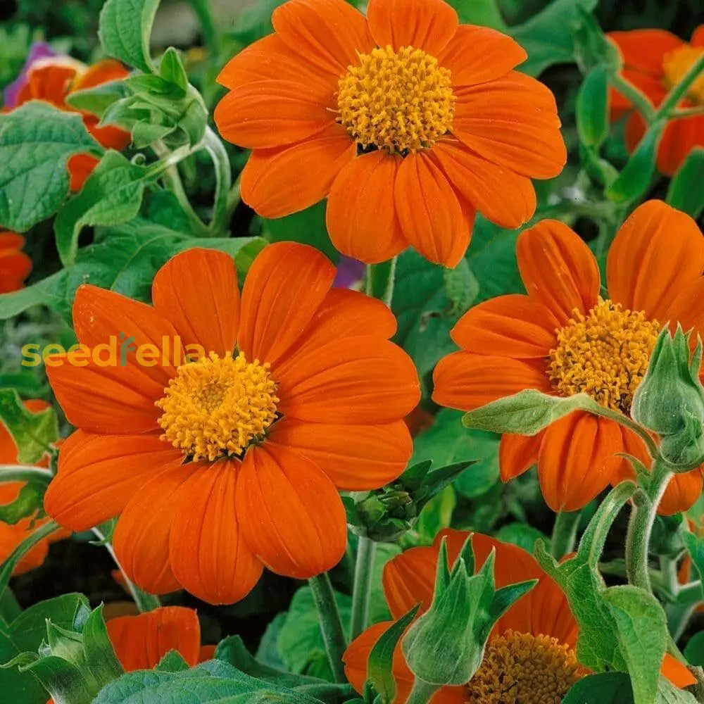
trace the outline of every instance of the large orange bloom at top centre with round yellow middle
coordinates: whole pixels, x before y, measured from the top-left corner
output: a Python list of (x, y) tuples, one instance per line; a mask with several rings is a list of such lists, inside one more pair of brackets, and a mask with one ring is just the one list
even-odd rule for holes
[(442, 0), (291, 0), (218, 81), (220, 134), (253, 149), (242, 198), (279, 218), (327, 197), (333, 244), (365, 263), (411, 245), (454, 267), (478, 210), (518, 227), (565, 144), (551, 92), (510, 37)]

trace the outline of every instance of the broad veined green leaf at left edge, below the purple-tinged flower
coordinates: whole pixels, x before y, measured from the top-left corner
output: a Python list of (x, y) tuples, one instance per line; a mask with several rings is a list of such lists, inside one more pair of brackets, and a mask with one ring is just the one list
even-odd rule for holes
[(54, 215), (68, 194), (68, 159), (96, 149), (77, 113), (30, 101), (0, 114), (0, 225), (26, 232)]

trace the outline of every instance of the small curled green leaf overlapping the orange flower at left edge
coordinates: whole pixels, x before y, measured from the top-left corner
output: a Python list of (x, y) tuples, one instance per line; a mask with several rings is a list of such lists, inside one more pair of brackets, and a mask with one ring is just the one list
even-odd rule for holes
[(58, 420), (53, 408), (32, 413), (15, 389), (0, 389), (0, 422), (11, 434), (18, 448), (20, 464), (38, 462), (49, 445), (58, 439)]

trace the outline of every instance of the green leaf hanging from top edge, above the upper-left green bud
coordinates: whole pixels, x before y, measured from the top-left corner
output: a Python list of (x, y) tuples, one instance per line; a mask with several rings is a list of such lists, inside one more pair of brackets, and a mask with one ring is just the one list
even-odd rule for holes
[(149, 39), (160, 0), (107, 0), (98, 36), (108, 56), (145, 73), (154, 70)]

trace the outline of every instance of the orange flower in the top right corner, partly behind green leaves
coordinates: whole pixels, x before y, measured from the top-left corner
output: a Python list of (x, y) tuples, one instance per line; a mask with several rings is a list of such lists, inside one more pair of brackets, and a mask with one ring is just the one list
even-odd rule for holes
[[(694, 30), (689, 44), (665, 30), (611, 32), (608, 36), (623, 58), (622, 77), (645, 94), (656, 108), (670, 88), (704, 53), (704, 25)], [(704, 77), (693, 82), (678, 107), (696, 106), (704, 106)], [(612, 120), (618, 120), (629, 111), (626, 144), (629, 151), (633, 151), (646, 132), (646, 123), (641, 113), (633, 110), (630, 101), (612, 89)], [(704, 115), (670, 120), (658, 146), (658, 169), (672, 176), (692, 149), (698, 146), (704, 146)]]

